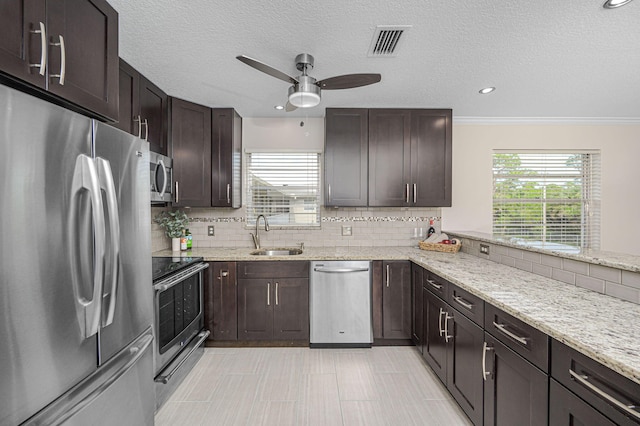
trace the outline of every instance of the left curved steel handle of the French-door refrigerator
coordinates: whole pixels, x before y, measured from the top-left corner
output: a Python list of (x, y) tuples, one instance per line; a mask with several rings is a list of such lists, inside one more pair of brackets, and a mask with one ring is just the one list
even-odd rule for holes
[[(91, 213), (93, 219), (93, 288), (92, 298), (87, 300), (81, 291), (82, 265), (78, 259), (79, 238), (77, 227), (79, 223), (79, 199), (83, 193), (88, 193), (91, 202)], [(98, 173), (93, 159), (87, 155), (80, 154), (76, 158), (76, 164), (71, 181), (71, 213), (69, 214), (68, 232), (70, 246), (76, 250), (72, 254), (72, 285), (75, 296), (76, 316), (81, 330), (84, 331), (85, 339), (98, 332), (100, 326), (100, 313), (102, 308), (102, 280), (104, 272), (104, 247), (105, 247), (105, 225), (104, 210), (102, 208), (102, 197), (100, 195), (100, 184)]]

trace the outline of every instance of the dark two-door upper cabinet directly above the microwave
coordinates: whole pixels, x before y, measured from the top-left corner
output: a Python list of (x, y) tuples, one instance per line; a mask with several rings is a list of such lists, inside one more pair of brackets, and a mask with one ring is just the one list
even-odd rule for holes
[(120, 59), (119, 129), (149, 142), (149, 149), (167, 155), (169, 98), (158, 86)]

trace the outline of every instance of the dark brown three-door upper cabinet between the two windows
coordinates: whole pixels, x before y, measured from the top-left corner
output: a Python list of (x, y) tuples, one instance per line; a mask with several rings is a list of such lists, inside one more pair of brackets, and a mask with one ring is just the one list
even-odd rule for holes
[(451, 206), (451, 117), (450, 109), (328, 108), (325, 205)]

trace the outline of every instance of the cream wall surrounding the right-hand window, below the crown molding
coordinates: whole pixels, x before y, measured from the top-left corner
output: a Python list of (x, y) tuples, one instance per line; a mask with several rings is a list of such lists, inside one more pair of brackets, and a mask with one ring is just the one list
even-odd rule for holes
[(443, 229), (491, 233), (494, 149), (599, 149), (601, 249), (640, 255), (640, 126), (453, 126), (453, 200)]

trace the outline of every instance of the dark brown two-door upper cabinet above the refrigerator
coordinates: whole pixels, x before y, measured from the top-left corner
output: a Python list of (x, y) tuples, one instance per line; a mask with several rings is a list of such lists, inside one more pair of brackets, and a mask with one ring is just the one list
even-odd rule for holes
[(50, 99), (118, 119), (118, 14), (105, 0), (0, 4), (0, 71)]

